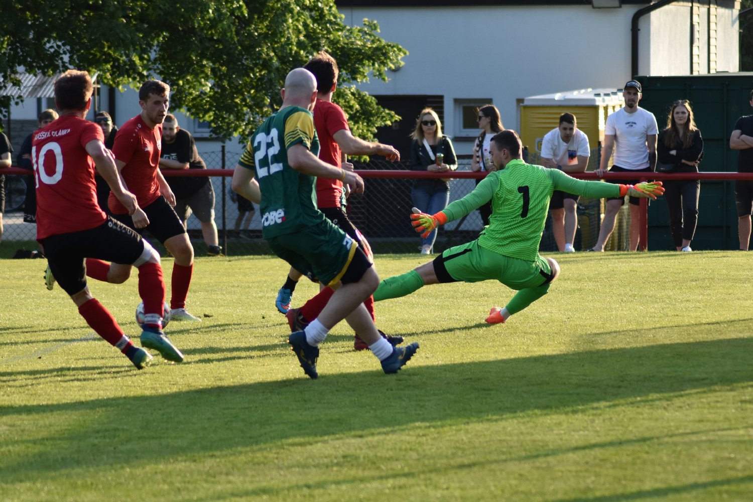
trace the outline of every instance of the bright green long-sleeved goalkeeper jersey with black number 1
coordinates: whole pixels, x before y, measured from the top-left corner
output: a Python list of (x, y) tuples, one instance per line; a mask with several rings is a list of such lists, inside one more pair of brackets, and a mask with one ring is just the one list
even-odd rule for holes
[(478, 244), (498, 254), (532, 261), (538, 257), (554, 190), (599, 199), (620, 194), (617, 184), (577, 180), (557, 169), (514, 159), (502, 171), (489, 173), (475, 190), (450, 203), (442, 212), (447, 214), (447, 221), (453, 221), (491, 200), (492, 215)]

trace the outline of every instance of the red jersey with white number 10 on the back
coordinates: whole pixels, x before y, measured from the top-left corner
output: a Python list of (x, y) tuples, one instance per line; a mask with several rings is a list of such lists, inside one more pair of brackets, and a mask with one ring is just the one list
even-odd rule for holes
[(89, 141), (105, 141), (96, 123), (59, 117), (32, 136), (37, 188), (37, 240), (99, 227), (107, 215), (96, 202), (94, 161)]

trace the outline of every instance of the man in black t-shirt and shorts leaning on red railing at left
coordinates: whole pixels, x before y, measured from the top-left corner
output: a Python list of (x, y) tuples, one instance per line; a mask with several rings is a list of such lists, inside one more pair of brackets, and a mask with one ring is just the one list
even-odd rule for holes
[[(206, 169), (197, 151), (191, 132), (178, 126), (178, 119), (167, 114), (162, 124), (162, 153), (160, 169)], [(222, 248), (215, 224), (215, 189), (208, 176), (167, 176), (165, 178), (175, 193), (175, 212), (186, 227), (193, 211), (201, 223), (201, 233), (206, 242), (207, 256), (222, 256)]]

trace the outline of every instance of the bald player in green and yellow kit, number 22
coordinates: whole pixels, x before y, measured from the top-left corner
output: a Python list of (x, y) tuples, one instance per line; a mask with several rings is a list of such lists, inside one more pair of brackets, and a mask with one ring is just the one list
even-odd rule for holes
[(233, 190), (260, 205), (261, 235), (277, 256), (336, 290), (319, 317), (288, 338), (304, 373), (312, 379), (319, 376), (319, 343), (346, 316), (384, 372), (397, 373), (419, 344), (393, 348), (380, 336), (363, 305), (377, 289), (379, 276), (358, 244), (316, 207), (317, 176), (337, 178), (355, 193), (363, 192), (364, 181), (316, 156), (315, 103), (314, 75), (304, 68), (288, 73), (282, 107), (254, 132), (233, 172)]

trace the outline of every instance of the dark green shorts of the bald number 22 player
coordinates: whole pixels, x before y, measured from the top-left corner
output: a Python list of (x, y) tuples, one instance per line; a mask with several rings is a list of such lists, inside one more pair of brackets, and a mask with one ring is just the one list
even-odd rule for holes
[(340, 281), (358, 249), (358, 243), (329, 220), (296, 233), (270, 237), (267, 244), (298, 272), (328, 286)]

